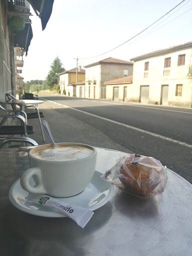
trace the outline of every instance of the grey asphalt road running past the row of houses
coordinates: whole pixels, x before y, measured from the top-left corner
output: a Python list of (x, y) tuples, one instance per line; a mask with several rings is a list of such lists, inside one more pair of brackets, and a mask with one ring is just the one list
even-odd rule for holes
[[(192, 109), (41, 95), (54, 110), (80, 120), (138, 154), (152, 156), (192, 183)], [(74, 129), (77, 127), (74, 127)]]

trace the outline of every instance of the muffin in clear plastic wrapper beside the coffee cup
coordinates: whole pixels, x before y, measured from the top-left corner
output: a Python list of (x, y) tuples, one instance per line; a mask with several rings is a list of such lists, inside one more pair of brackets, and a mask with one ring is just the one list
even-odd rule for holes
[(163, 192), (168, 176), (166, 166), (155, 158), (127, 154), (119, 158), (101, 178), (124, 192), (145, 199)]

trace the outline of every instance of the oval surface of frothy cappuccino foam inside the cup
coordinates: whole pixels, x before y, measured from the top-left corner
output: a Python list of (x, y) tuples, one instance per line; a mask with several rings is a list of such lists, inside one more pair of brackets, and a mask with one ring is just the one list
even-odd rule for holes
[(82, 146), (56, 146), (39, 149), (34, 157), (53, 161), (76, 160), (89, 156), (93, 150)]

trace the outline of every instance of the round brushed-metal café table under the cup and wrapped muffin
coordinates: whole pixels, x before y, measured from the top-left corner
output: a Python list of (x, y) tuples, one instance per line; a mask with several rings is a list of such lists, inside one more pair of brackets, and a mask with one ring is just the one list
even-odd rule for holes
[[(31, 147), (0, 150), (1, 255), (192, 255), (192, 185), (168, 171), (164, 192), (145, 200), (116, 187), (82, 229), (65, 218), (16, 209), (8, 190), (28, 168)], [(96, 170), (104, 172), (126, 154), (97, 148)]]

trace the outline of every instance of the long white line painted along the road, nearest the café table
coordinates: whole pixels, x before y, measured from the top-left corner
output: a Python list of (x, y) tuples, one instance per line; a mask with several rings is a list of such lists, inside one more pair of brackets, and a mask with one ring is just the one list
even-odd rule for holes
[[(45, 99), (45, 98), (43, 98), (43, 99)], [(45, 100), (48, 100), (48, 99), (45, 99)], [(51, 100), (48, 100), (48, 101), (51, 101)], [(53, 102), (53, 101), (52, 101), (52, 102)], [(55, 103), (57, 103), (57, 102), (55, 102)], [(58, 104), (58, 103), (57, 103), (57, 104)], [(154, 136), (154, 137), (162, 138), (162, 139), (164, 139), (164, 140), (168, 140), (168, 141), (170, 141), (170, 142), (177, 143), (177, 144), (179, 144), (179, 145), (187, 146), (187, 147), (191, 147), (191, 148), (192, 148), (192, 145), (187, 144), (187, 143), (185, 143), (185, 142), (181, 142), (181, 141), (176, 140), (176, 139), (172, 139), (172, 138), (169, 138), (169, 137), (165, 137), (165, 136), (162, 136), (162, 135), (160, 135), (160, 134), (156, 134), (156, 133), (153, 133), (153, 132), (150, 132), (150, 131), (147, 131), (147, 130), (143, 130), (143, 129), (140, 129), (140, 128), (137, 128), (137, 127), (134, 127), (134, 126), (130, 126), (130, 125), (125, 124), (125, 123), (117, 122), (117, 121), (114, 121), (114, 120), (111, 120), (111, 119), (108, 119), (108, 118), (105, 118), (105, 117), (102, 117), (102, 116), (99, 116), (99, 115), (96, 115), (96, 114), (88, 113), (88, 112), (85, 112), (85, 111), (82, 111), (82, 110), (79, 110), (79, 109), (76, 109), (76, 108), (73, 108), (73, 107), (70, 107), (70, 106), (67, 106), (67, 105), (63, 105), (63, 104), (62, 104), (62, 106), (66, 107), (66, 108), (73, 109), (73, 110), (75, 110), (75, 111), (79, 111), (79, 112), (81, 112), (81, 113), (89, 114), (89, 115), (91, 115), (91, 116), (94, 116), (94, 117), (103, 119), (103, 120), (105, 120), (105, 121), (109, 121), (109, 122), (112, 122), (112, 123), (115, 123), (115, 124), (124, 126), (124, 127), (126, 127), (126, 128), (129, 128), (129, 129), (137, 130), (137, 131), (140, 131), (140, 132), (149, 134), (149, 135)]]

